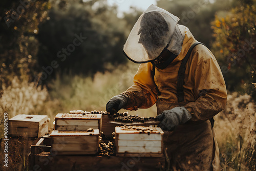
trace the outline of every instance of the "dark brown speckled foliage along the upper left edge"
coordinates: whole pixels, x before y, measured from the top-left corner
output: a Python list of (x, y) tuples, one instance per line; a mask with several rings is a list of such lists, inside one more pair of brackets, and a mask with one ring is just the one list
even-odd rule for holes
[(22, 78), (36, 71), (38, 41), (35, 35), (50, 4), (46, 0), (24, 2), (0, 2), (0, 86), (10, 84), (8, 78), (14, 75)]

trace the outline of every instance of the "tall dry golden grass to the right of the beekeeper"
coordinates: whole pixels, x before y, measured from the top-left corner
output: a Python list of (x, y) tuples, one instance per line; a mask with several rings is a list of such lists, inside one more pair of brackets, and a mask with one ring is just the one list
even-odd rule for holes
[(249, 95), (232, 93), (225, 110), (215, 117), (222, 170), (256, 170), (255, 112)]

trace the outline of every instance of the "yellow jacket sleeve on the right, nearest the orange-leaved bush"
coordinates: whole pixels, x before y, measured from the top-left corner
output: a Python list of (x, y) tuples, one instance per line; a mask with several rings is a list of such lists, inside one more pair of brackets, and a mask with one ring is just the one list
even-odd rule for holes
[[(199, 48), (201, 47), (201, 48)], [(225, 108), (227, 100), (226, 84), (214, 55), (205, 47), (198, 46), (198, 61), (195, 65), (195, 102), (184, 107), (191, 113), (192, 121), (205, 121)]]

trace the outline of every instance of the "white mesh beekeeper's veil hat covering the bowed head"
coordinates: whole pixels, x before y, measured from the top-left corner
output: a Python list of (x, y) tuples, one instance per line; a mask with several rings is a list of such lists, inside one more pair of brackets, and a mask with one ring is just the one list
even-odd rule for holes
[(123, 46), (124, 54), (136, 63), (153, 61), (164, 49), (178, 55), (183, 42), (178, 21), (177, 16), (151, 5), (134, 25)]

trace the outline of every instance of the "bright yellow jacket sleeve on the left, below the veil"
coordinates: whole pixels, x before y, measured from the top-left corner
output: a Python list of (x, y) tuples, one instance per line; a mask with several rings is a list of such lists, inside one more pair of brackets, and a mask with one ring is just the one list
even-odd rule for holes
[(156, 103), (157, 88), (152, 70), (151, 62), (141, 63), (134, 76), (133, 86), (123, 92), (123, 94), (130, 97), (125, 108), (126, 110), (146, 109)]

